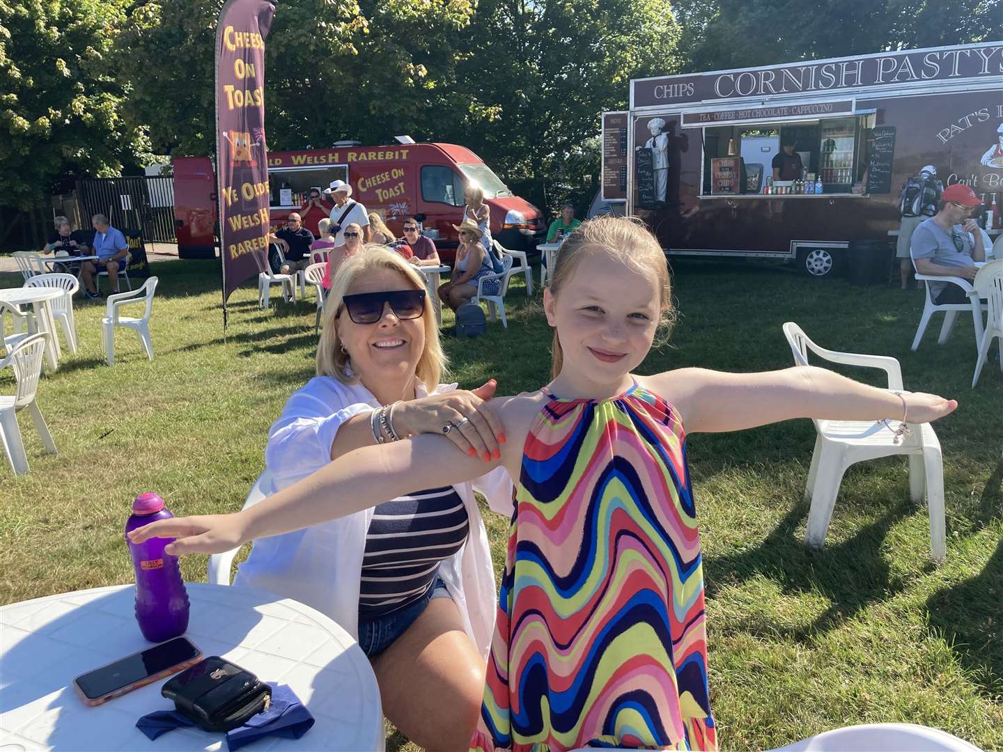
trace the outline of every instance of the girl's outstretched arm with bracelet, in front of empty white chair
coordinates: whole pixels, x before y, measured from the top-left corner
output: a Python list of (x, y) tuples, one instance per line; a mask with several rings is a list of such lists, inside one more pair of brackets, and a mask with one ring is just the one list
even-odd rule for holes
[(687, 433), (737, 431), (790, 418), (892, 420), (928, 423), (953, 412), (957, 401), (936, 394), (867, 386), (814, 366), (725, 373), (681, 368), (647, 379), (680, 411)]

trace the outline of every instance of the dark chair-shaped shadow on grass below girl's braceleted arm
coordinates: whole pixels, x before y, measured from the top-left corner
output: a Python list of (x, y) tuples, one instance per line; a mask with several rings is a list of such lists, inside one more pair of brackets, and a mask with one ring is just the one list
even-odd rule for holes
[[(777, 583), (784, 594), (819, 592), (830, 606), (810, 625), (786, 634), (794, 640), (806, 640), (838, 629), (871, 604), (886, 601), (905, 590), (890, 577), (888, 562), (881, 553), (881, 543), (900, 519), (913, 512), (912, 502), (902, 501), (881, 518), (862, 527), (856, 535), (812, 550), (798, 536), (797, 527), (807, 512), (805, 502), (798, 503), (755, 548), (734, 555), (707, 557), (704, 560), (706, 591), (713, 598), (722, 585), (744, 582), (761, 576)], [(927, 565), (932, 570), (933, 562)], [(774, 635), (775, 625), (750, 617), (741, 629), (754, 635)]]

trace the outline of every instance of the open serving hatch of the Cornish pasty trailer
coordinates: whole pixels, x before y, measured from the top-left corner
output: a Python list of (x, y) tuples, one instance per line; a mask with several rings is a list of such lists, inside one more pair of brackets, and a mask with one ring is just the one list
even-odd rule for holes
[[(863, 194), (867, 131), (873, 121), (873, 115), (854, 115), (706, 127), (702, 195), (723, 193), (715, 174), (729, 164), (741, 173), (738, 190), (732, 185), (726, 192), (729, 194), (764, 194), (771, 182), (783, 186), (780, 195), (787, 195), (788, 186), (794, 189), (790, 193), (817, 194), (804, 185), (817, 180), (822, 194)], [(737, 161), (729, 162), (728, 158)], [(713, 161), (721, 159), (724, 161)]]

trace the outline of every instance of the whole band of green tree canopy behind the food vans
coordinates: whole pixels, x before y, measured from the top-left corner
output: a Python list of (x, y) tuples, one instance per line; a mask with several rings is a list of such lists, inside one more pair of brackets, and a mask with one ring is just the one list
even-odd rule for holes
[[(274, 149), (463, 143), (531, 200), (583, 199), (599, 117), (645, 75), (981, 41), (1003, 0), (281, 0)], [(0, 195), (211, 154), (223, 0), (0, 0)], [(576, 193), (577, 192), (577, 193)]]

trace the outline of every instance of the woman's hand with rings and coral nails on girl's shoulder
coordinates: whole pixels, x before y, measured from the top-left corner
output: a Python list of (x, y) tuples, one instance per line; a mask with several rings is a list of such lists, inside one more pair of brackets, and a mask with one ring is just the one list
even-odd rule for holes
[[(501, 456), (498, 444), (506, 441), (505, 428), (487, 405), (496, 388), (497, 382), (491, 379), (472, 391), (456, 389), (400, 402), (393, 411), (393, 427), (401, 436), (445, 435), (457, 449), (471, 457), (480, 457), (485, 462), (497, 459)], [(445, 426), (451, 427), (443, 434)]]

